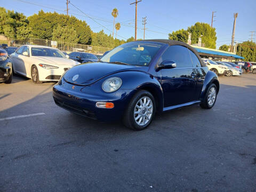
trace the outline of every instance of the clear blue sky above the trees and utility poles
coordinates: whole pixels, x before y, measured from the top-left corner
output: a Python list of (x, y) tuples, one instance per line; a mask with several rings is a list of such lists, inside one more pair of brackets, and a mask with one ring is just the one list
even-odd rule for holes
[[(134, 1), (70, 0), (83, 13), (69, 4), (69, 14), (85, 20), (94, 32), (103, 29), (106, 34), (111, 34), (113, 30), (111, 12), (117, 8), (119, 15), (116, 22), (121, 23), (117, 38), (127, 39), (131, 36), (134, 37), (135, 6), (134, 4), (130, 5)], [(0, 6), (22, 12), (27, 17), (38, 13), (41, 9), (45, 12), (54, 12), (55, 9), (58, 13), (65, 13), (67, 9), (66, 0), (0, 0)], [(137, 38), (143, 38), (142, 17), (147, 17), (146, 39), (166, 39), (172, 31), (187, 29), (196, 22), (205, 22), (211, 25), (212, 11), (216, 11), (214, 13), (216, 21), (213, 22), (213, 27), (217, 31), (217, 47), (222, 44), (230, 44), (234, 13), (238, 13), (235, 30), (236, 42), (249, 40), (250, 31), (256, 31), (256, 0), (142, 0), (138, 3)], [(253, 41), (255, 42), (255, 39)]]

